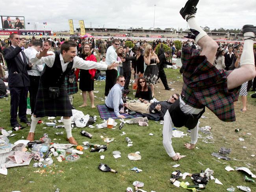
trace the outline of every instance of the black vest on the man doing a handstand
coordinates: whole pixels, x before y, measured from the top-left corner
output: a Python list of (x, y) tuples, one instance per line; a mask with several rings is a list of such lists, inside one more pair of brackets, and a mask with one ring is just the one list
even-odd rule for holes
[(188, 129), (194, 129), (198, 120), (204, 113), (205, 107), (199, 114), (185, 114), (180, 109), (180, 99), (178, 99), (171, 105), (171, 107), (169, 107), (168, 110), (175, 127), (185, 126)]

